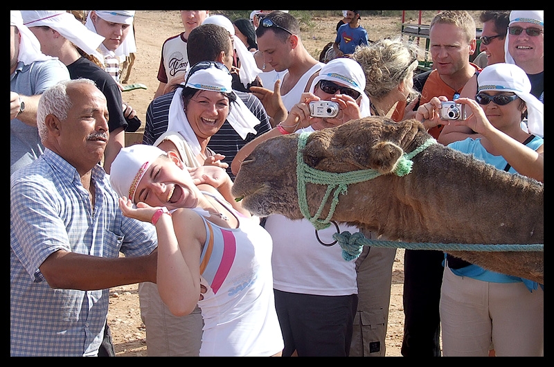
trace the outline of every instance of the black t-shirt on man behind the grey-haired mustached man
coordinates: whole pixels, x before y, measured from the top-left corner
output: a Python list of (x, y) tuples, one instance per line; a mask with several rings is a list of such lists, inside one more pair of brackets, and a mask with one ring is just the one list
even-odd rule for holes
[(118, 84), (111, 78), (111, 75), (93, 62), (81, 57), (79, 60), (67, 66), (69, 76), (73, 79), (87, 78), (96, 83), (96, 87), (104, 93), (107, 100), (109, 113), (108, 127), (109, 132), (113, 132), (118, 127), (127, 129), (127, 121), (123, 116), (123, 100), (121, 99), (121, 90)]

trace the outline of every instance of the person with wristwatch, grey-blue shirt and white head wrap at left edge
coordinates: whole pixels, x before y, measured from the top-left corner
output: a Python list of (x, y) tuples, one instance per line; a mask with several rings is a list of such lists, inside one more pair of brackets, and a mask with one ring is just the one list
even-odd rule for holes
[(23, 24), (19, 10), (10, 11), (10, 174), (37, 159), (43, 152), (37, 132), (40, 94), (69, 71), (60, 60), (46, 56)]

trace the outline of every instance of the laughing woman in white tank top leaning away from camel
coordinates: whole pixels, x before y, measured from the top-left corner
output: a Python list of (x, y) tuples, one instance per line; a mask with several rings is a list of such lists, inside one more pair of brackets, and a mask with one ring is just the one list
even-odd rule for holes
[(232, 185), (224, 170), (199, 183), (175, 152), (143, 144), (122, 148), (112, 166), (123, 214), (156, 226), (163, 302), (176, 316), (202, 310), (199, 355), (280, 355), (271, 237), (218, 193)]

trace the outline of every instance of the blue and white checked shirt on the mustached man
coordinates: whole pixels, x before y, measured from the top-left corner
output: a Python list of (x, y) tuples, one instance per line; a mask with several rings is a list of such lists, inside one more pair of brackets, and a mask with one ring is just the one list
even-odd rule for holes
[(117, 258), (157, 246), (154, 226), (124, 217), (100, 165), (89, 191), (68, 162), (46, 149), (10, 178), (10, 355), (97, 355), (109, 289), (52, 289), (39, 267), (58, 250)]

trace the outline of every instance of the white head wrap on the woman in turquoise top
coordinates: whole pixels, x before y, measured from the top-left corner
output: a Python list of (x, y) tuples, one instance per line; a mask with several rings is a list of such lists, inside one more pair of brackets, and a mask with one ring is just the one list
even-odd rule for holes
[(527, 105), (527, 129), (530, 134), (544, 137), (544, 105), (531, 91), (531, 82), (523, 69), (515, 64), (492, 64), (477, 76), (481, 91), (510, 91), (516, 93)]

